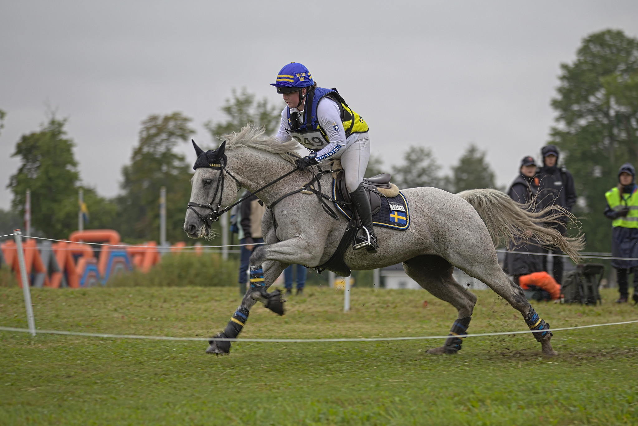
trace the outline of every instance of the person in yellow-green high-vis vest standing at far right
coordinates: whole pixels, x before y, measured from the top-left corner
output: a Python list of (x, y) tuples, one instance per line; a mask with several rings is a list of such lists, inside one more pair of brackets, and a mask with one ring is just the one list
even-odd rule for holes
[[(634, 166), (625, 163), (618, 171), (618, 186), (605, 192), (605, 216), (612, 220), (611, 254), (613, 257), (638, 258), (638, 186)], [(611, 266), (618, 274), (617, 303), (627, 303), (630, 271), (634, 272), (634, 303), (638, 303), (638, 261), (613, 260)]]

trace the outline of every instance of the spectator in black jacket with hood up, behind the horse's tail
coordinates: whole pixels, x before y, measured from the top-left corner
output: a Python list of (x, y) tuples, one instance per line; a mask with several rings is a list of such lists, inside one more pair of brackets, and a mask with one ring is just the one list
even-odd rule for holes
[[(544, 209), (549, 206), (561, 206), (567, 211), (572, 211), (576, 202), (576, 190), (574, 188), (574, 178), (565, 166), (558, 166), (558, 148), (554, 145), (544, 146), (541, 150), (544, 166), (537, 174), (538, 183), (538, 208)], [(563, 216), (561, 224), (552, 224), (557, 231), (565, 235), (567, 229), (567, 217)], [(561, 255), (563, 252), (558, 247), (547, 247), (544, 252)], [(563, 258), (552, 256), (554, 261), (553, 275), (558, 284), (563, 282)], [(547, 270), (547, 257), (544, 257), (544, 270)], [(549, 271), (548, 271), (549, 272)]]

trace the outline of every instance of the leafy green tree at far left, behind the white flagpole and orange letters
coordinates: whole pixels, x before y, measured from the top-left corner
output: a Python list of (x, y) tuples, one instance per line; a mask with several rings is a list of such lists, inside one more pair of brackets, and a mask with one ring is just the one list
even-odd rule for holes
[(66, 137), (66, 120), (51, 118), (40, 132), (23, 135), (15, 146), (18, 172), (8, 188), (12, 208), (24, 215), (26, 190), (31, 190), (31, 224), (49, 238), (66, 238), (77, 229), (77, 162), (73, 141)]

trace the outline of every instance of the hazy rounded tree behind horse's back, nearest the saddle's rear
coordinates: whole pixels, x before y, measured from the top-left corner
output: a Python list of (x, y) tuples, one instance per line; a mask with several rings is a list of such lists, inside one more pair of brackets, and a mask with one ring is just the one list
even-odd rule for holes
[(403, 165), (393, 165), (394, 183), (401, 189), (418, 186), (436, 186), (440, 188), (441, 166), (436, 163), (432, 150), (422, 146), (410, 146), (403, 155)]

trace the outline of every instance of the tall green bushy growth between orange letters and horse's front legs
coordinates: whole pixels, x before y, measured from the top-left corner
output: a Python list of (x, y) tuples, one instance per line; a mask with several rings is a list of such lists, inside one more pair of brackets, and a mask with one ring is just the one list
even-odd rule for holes
[(133, 271), (113, 277), (107, 285), (114, 287), (223, 287), (237, 285), (239, 261), (224, 261), (218, 253), (202, 255), (168, 254), (148, 273)]

